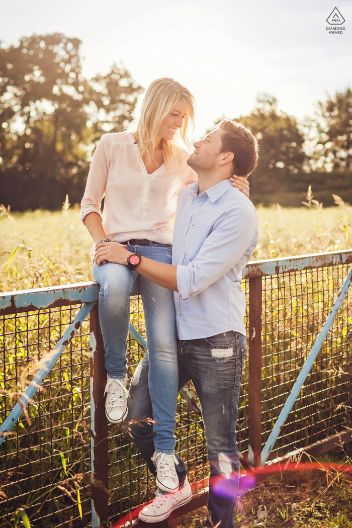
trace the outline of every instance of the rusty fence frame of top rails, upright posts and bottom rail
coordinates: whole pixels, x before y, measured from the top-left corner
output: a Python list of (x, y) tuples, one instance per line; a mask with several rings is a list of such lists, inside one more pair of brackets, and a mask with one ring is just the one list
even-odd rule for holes
[[(305, 269), (322, 268), (352, 263), (352, 251), (338, 251), (334, 253), (317, 253), (299, 257), (270, 259), (250, 262), (243, 270), (243, 278), (249, 279), (249, 455), (248, 460), (241, 457), (243, 464), (260, 464), (261, 447), (261, 278), (270, 275), (289, 274)], [(135, 288), (132, 295), (138, 295)], [(99, 285), (96, 282), (39, 288), (32, 290), (12, 291), (0, 294), (0, 315), (28, 312), (43, 308), (53, 308), (82, 303), (90, 311), (91, 331), (91, 471), (92, 471), (92, 527), (108, 525), (108, 446), (107, 420), (104, 413), (103, 390), (106, 383), (106, 371), (103, 367), (103, 342), (99, 325), (97, 300)], [(145, 341), (138, 332), (131, 327), (132, 338), (140, 341), (145, 347)], [(142, 341), (141, 341), (142, 340)], [(67, 341), (67, 340), (65, 340)], [(56, 345), (58, 346), (58, 345)], [(183, 394), (191, 402), (191, 394)], [(189, 398), (187, 398), (189, 396)], [(196, 403), (196, 402), (195, 402)], [(199, 412), (198, 406), (194, 408)], [(311, 454), (321, 454), (332, 449), (339, 438), (351, 441), (350, 431), (330, 437), (322, 442), (307, 446), (304, 451)], [(296, 453), (296, 452), (294, 452)], [(292, 453), (286, 457), (293, 456)], [(281, 459), (280, 459), (281, 460)], [(267, 464), (271, 464), (269, 461)], [(207, 491), (194, 495), (192, 501), (177, 510), (177, 516), (194, 510), (206, 504)], [(133, 523), (138, 526), (138, 521)], [(155, 525), (157, 526), (157, 525)]]

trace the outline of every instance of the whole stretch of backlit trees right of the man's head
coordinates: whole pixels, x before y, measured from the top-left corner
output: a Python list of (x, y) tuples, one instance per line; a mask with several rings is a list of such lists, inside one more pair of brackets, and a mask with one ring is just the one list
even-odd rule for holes
[(278, 109), (262, 94), (248, 116), (236, 119), (258, 139), (259, 162), (250, 175), (251, 200), (301, 206), (312, 185), (317, 199), (333, 205), (332, 193), (352, 203), (352, 92), (337, 92), (319, 103), (314, 119), (304, 123)]

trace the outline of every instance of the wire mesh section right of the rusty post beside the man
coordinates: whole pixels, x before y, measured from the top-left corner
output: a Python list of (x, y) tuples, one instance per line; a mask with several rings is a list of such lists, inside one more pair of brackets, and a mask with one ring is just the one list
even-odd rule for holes
[[(263, 279), (263, 443), (348, 270), (349, 266), (331, 266)], [(275, 456), (323, 440), (351, 425), (351, 299), (349, 291), (281, 429)]]

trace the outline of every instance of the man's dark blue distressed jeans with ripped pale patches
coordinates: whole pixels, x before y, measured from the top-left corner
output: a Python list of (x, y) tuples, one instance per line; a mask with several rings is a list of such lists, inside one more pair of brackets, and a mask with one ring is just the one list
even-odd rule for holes
[[(201, 402), (205, 427), (208, 459), (211, 465), (208, 511), (215, 526), (233, 528), (235, 498), (216, 495), (212, 477), (239, 472), (240, 462), (236, 442), (236, 423), (241, 375), (246, 356), (246, 338), (236, 332), (226, 332), (206, 339), (178, 342), (178, 388), (193, 381)], [(146, 354), (138, 365), (129, 390), (129, 420), (153, 417), (148, 395), (149, 359)], [(150, 460), (153, 456), (153, 429), (144, 425), (130, 425), (133, 441), (147, 461), (154, 475), (156, 470)], [(127, 435), (126, 435), (127, 436)], [(178, 458), (178, 457), (177, 457)], [(180, 482), (186, 476), (186, 467), (178, 458), (176, 471)], [(232, 475), (233, 478), (233, 475)], [(236, 492), (236, 482), (231, 491)], [(207, 519), (207, 527), (211, 522)]]

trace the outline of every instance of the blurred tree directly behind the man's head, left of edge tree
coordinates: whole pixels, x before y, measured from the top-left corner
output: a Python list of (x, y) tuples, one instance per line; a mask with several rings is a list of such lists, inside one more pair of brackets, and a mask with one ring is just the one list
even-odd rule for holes
[(297, 121), (277, 108), (277, 99), (263, 94), (249, 116), (237, 121), (247, 126), (259, 143), (259, 162), (251, 175), (253, 194), (292, 190), (307, 166), (305, 138)]

